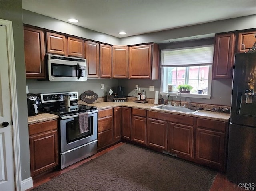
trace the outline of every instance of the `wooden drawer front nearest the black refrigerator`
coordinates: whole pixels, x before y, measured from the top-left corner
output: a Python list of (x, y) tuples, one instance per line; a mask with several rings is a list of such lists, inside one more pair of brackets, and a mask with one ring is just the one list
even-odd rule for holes
[(219, 132), (225, 132), (226, 122), (198, 118), (197, 119), (197, 127), (209, 129), (209, 130), (215, 130), (215, 131), (219, 131)]

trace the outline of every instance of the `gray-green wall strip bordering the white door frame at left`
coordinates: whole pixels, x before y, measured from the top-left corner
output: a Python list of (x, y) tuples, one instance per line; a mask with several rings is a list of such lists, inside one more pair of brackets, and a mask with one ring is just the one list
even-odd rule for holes
[[(14, 38), (15, 71), (18, 95), (18, 124), (20, 138), (21, 179), (30, 177), (30, 156), (28, 141), (28, 113), (26, 98), (26, 76), (24, 38), (22, 21), (22, 1), (1, 1), (0, 18), (12, 21)], [(14, 127), (15, 128), (15, 127)]]

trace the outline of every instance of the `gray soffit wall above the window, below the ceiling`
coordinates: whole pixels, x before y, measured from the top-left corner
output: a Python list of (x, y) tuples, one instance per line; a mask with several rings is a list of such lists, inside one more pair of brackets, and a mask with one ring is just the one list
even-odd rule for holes
[(147, 42), (163, 43), (175, 39), (182, 41), (184, 39), (189, 39), (188, 37), (190, 37), (190, 39), (191, 37), (214, 37), (215, 33), (249, 28), (256, 28), (256, 15), (124, 37), (121, 39), (120, 43), (124, 45), (132, 45)]

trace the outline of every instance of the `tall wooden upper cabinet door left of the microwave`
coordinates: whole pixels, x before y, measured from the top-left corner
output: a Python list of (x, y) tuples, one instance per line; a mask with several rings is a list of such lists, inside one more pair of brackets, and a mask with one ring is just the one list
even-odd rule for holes
[(24, 26), (26, 78), (46, 78), (44, 32)]

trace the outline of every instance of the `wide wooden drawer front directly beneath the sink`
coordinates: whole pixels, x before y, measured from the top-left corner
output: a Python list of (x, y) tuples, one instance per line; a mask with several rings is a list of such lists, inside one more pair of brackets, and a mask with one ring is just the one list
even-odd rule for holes
[(185, 125), (194, 125), (194, 117), (191, 116), (184, 116), (184, 115), (176, 115), (176, 114), (169, 114), (164, 112), (154, 112), (148, 111), (148, 118), (160, 119), (170, 122), (176, 122), (179, 124)]

